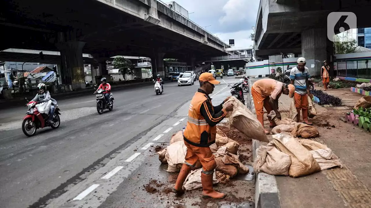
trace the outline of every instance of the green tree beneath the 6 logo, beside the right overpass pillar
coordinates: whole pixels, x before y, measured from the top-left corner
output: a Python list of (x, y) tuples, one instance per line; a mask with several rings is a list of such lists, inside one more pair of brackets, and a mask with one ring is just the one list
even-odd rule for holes
[(357, 41), (349, 37), (346, 32), (336, 35), (335, 40), (333, 43), (335, 54), (354, 53), (357, 47)]

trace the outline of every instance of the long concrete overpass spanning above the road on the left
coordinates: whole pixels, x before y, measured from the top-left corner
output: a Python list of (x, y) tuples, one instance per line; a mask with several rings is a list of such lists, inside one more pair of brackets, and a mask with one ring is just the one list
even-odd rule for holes
[[(62, 81), (83, 88), (82, 53), (104, 63), (116, 55), (155, 60), (220, 56), (229, 47), (216, 36), (157, 0), (13, 0), (0, 14), (0, 50), (60, 51)], [(26, 58), (25, 60), (26, 61)]]

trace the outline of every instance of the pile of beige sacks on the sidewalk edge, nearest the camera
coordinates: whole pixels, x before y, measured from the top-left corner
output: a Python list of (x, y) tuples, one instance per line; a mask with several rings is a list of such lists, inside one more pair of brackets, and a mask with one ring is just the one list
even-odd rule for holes
[(272, 135), (273, 140), (256, 150), (254, 170), (270, 175), (301, 177), (342, 164), (326, 145), (298, 139), (283, 132)]

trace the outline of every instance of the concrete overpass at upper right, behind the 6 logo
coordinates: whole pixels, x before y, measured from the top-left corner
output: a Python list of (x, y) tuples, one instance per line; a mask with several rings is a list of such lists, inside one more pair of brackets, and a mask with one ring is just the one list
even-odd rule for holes
[[(332, 60), (332, 42), (327, 38), (327, 16), (333, 11), (351, 11), (357, 27), (370, 27), (368, 0), (260, 0), (255, 30), (255, 55), (296, 53), (315, 64)], [(334, 29), (339, 29), (339, 26)]]

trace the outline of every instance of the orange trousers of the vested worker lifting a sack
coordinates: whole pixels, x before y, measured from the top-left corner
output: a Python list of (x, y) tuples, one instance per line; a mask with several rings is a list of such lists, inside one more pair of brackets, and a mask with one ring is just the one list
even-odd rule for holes
[(184, 141), (187, 147), (187, 154), (185, 155), (185, 163), (191, 168), (196, 166), (199, 160), (202, 165), (202, 170), (205, 174), (212, 174), (216, 168), (216, 161), (213, 152), (211, 152), (210, 147), (196, 147), (194, 145), (188, 144)]

